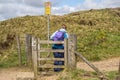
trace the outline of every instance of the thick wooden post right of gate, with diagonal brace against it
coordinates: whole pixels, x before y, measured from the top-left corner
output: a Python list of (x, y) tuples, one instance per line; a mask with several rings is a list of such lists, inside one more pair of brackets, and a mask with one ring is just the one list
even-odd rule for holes
[(76, 68), (76, 56), (75, 51), (77, 49), (77, 36), (70, 34), (68, 39), (68, 66), (70, 69)]

